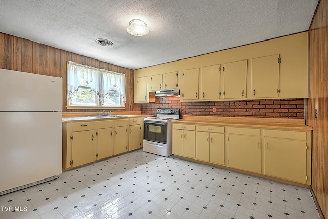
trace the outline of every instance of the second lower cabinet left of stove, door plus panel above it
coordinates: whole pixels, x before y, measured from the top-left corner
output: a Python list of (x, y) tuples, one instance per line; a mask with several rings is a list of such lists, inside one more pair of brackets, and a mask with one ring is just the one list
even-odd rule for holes
[(129, 119), (114, 121), (114, 155), (129, 150)]

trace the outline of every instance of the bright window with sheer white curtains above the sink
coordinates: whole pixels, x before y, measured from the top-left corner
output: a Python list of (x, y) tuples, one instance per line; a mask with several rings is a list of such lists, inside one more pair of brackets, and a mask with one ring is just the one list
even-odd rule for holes
[(124, 106), (124, 74), (68, 61), (67, 75), (70, 106)]

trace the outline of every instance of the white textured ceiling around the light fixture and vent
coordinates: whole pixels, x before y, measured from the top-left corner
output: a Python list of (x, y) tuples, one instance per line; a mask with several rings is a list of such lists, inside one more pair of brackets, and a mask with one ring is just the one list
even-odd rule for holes
[[(139, 69), (309, 29), (318, 0), (1, 0), (0, 32)], [(150, 30), (126, 28), (132, 19)], [(113, 42), (111, 47), (95, 43)]]

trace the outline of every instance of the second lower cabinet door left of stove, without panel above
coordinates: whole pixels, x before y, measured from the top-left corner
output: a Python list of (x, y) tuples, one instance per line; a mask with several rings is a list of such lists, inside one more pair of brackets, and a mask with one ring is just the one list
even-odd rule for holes
[(120, 154), (129, 150), (129, 126), (115, 127), (114, 132), (114, 154)]

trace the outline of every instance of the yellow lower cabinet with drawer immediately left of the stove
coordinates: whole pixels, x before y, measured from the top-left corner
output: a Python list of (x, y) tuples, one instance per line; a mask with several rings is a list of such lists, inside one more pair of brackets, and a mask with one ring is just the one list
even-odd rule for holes
[(141, 118), (130, 118), (129, 120), (129, 151), (136, 150), (142, 147), (142, 119)]

